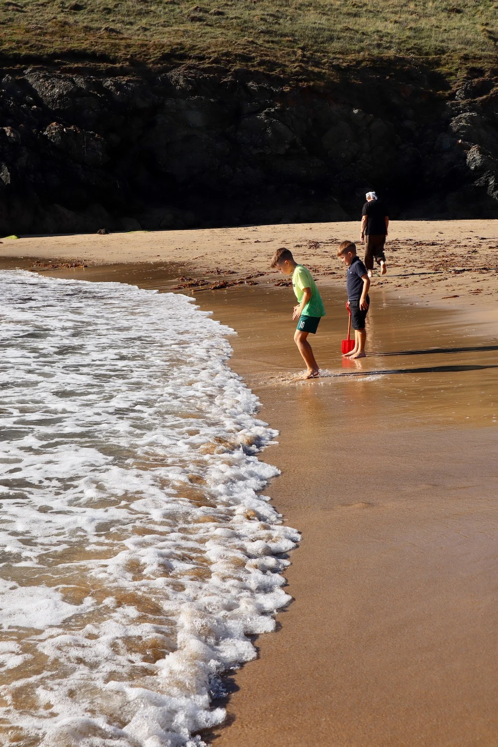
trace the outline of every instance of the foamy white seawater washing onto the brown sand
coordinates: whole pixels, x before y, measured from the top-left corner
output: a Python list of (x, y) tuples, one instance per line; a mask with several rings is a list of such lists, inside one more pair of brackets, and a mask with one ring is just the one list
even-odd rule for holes
[(187, 297), (0, 272), (0, 743), (193, 747), (289, 601), (276, 436)]

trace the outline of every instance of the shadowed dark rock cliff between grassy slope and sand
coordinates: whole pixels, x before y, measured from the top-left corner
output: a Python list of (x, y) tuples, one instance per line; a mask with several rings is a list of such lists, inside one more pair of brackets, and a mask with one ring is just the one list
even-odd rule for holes
[(0, 232), (498, 217), (498, 87), (289, 86), (223, 69), (0, 83)]

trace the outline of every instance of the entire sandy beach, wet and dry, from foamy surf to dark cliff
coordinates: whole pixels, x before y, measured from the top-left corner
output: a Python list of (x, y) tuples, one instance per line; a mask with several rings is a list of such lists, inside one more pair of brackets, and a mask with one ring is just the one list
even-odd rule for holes
[[(238, 332), (230, 339), (232, 368), (260, 397), (261, 418), (280, 431), (278, 445), (261, 455), (282, 472), (265, 492), (284, 521), (302, 532), (286, 574), (295, 601), (278, 615), (278, 632), (258, 639), (258, 661), (230, 678), (228, 724), (208, 735), (217, 747), (497, 743), (498, 333), (496, 271), (482, 267), (498, 264), (491, 248), (498, 222), (438, 223), (445, 242), (449, 235), (460, 241), (444, 272), (436, 264), (441, 250), (429, 243), (435, 222), (429, 223), (393, 224), (390, 237), (401, 237), (396, 264), (402, 266), (391, 261), (382, 285), (378, 278), (373, 284), (370, 355), (358, 362), (340, 358), (347, 320), (343, 270), (329, 245), (323, 272), (333, 267), (337, 276), (319, 274), (328, 314), (313, 341), (322, 379), (298, 380), (292, 289), (274, 287), (275, 276), (196, 293), (202, 309)], [(297, 244), (308, 230), (255, 230), (278, 234), (276, 247), (284, 229)], [(192, 276), (208, 276), (215, 267), (247, 273), (238, 244), (233, 258), (217, 249), (220, 236), (228, 241), (222, 230), (237, 240), (252, 229), (214, 229), (208, 261), (192, 267)], [(314, 240), (328, 241), (328, 231), (354, 236), (349, 224), (319, 224)], [(477, 239), (467, 238), (471, 231)], [(166, 243), (172, 233), (142, 234), (140, 246), (149, 238)], [(161, 255), (161, 261), (129, 247), (120, 254), (122, 235), (90, 237), (90, 253), (96, 239), (115, 238), (116, 259), (154, 264), (46, 271), (166, 291), (178, 284), (179, 268), (164, 262), (182, 262), (184, 273), (193, 262), (187, 235), (201, 233), (208, 244), (207, 232), (181, 232), (183, 255)], [(408, 246), (415, 236), (427, 242), (416, 254)], [(25, 243), (28, 257), (31, 241), (41, 242), (41, 252), (49, 240), (12, 244), (17, 250)], [(84, 238), (63, 241), (57, 238), (57, 252), (44, 256), (83, 256)], [(484, 241), (486, 247), (478, 244)], [(258, 247), (261, 270), (274, 248), (268, 244)], [(43, 256), (29, 246), (31, 257)], [(324, 246), (313, 249), (322, 260)], [(476, 247), (482, 248), (473, 252)], [(310, 261), (304, 252), (298, 258)], [(407, 276), (406, 267), (425, 274)], [(395, 288), (400, 282), (410, 288)]]

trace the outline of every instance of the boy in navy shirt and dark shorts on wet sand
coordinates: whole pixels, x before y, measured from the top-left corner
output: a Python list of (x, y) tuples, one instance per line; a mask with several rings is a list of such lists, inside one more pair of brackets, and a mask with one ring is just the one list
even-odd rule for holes
[(352, 241), (343, 241), (337, 249), (337, 257), (340, 258), (346, 267), (346, 288), (348, 293), (347, 307), (351, 311), (351, 321), (355, 330), (355, 347), (351, 353), (345, 353), (344, 358), (364, 358), (365, 342), (367, 341), (367, 330), (365, 329), (365, 319), (367, 318), (370, 298), (368, 289), (370, 288), (370, 278), (367, 273), (367, 267), (356, 255), (356, 245)]

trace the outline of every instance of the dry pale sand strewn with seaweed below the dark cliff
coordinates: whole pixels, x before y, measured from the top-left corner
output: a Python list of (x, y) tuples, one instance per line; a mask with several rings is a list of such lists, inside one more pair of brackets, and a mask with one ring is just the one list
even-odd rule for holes
[[(278, 247), (292, 249), (320, 282), (343, 282), (337, 244), (358, 239), (359, 222), (294, 223), (188, 231), (137, 231), (109, 235), (26, 236), (4, 238), (1, 258), (24, 258), (48, 271), (64, 262), (114, 264), (148, 262), (160, 267), (178, 262), (181, 277), (205, 279), (207, 285), (246, 279), (275, 282), (269, 258)], [(395, 296), (414, 295), (423, 303), (458, 306), (470, 297), (494, 303), (497, 294), (498, 220), (393, 221), (387, 239), (389, 275), (376, 278)], [(43, 267), (45, 265), (45, 267)], [(490, 270), (491, 268), (491, 270)], [(258, 274), (261, 273), (261, 274)], [(179, 281), (180, 285), (188, 280)], [(341, 286), (342, 287), (342, 286)]]

